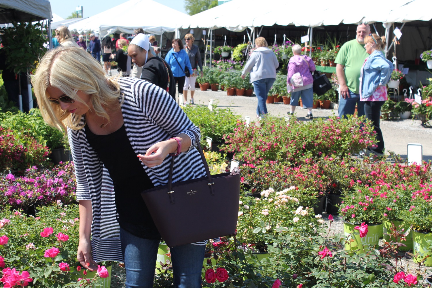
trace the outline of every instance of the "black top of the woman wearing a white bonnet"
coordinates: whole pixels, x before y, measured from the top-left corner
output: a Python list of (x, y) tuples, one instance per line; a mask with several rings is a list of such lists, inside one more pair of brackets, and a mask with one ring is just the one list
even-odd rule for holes
[(175, 80), (172, 75), (171, 68), (161, 57), (154, 56), (147, 60), (147, 63), (143, 66), (143, 72), (141, 73), (141, 79), (144, 79), (150, 83), (158, 85), (166, 91), (168, 87), (168, 73), (169, 73), (169, 91), (168, 94), (175, 99)]

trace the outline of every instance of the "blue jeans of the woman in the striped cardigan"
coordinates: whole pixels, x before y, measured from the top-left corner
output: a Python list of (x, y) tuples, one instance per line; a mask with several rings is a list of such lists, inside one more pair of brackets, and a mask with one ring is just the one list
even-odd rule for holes
[[(120, 228), (127, 288), (152, 288), (159, 240), (143, 239)], [(186, 244), (170, 248), (176, 288), (200, 288), (206, 246)]]

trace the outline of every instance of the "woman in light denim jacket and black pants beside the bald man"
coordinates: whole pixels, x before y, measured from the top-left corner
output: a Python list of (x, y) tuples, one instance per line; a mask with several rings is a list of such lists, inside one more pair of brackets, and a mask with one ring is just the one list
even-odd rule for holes
[(372, 121), (376, 132), (377, 147), (368, 147), (369, 153), (384, 155), (384, 139), (379, 127), (381, 107), (387, 100), (386, 84), (390, 80), (393, 64), (385, 59), (382, 49), (385, 38), (376, 34), (365, 37), (365, 49), (370, 57), (366, 58), (360, 73), (360, 101), (365, 102), (366, 119)]

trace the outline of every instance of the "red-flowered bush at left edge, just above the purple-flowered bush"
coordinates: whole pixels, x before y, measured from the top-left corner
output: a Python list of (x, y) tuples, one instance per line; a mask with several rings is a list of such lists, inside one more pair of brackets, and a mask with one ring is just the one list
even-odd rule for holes
[(0, 126), (0, 173), (23, 173), (30, 166), (48, 164), (49, 149), (31, 136)]

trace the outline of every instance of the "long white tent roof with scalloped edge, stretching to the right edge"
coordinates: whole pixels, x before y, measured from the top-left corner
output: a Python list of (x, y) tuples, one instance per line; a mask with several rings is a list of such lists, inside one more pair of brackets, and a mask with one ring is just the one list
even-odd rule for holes
[[(376, 0), (372, 6), (356, 9), (346, 0), (302, 1), (232, 0), (191, 16), (181, 28), (226, 28), (240, 32), (247, 27), (357, 24), (360, 22), (408, 22), (432, 19), (431, 0)], [(257, 8), (259, 7), (259, 9)], [(313, 7), (313, 9), (311, 9)], [(241, 11), (232, 16), (229, 11)]]

